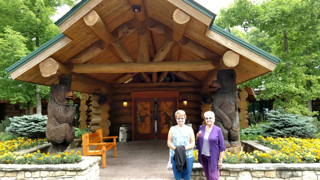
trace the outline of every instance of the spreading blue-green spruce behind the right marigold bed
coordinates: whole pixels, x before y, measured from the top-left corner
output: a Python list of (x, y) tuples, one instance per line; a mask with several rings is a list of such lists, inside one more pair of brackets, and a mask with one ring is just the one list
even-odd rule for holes
[(283, 109), (269, 111), (267, 118), (269, 124), (261, 125), (266, 128), (262, 133), (263, 136), (307, 138), (316, 132), (312, 118), (302, 117), (300, 114), (288, 114)]

